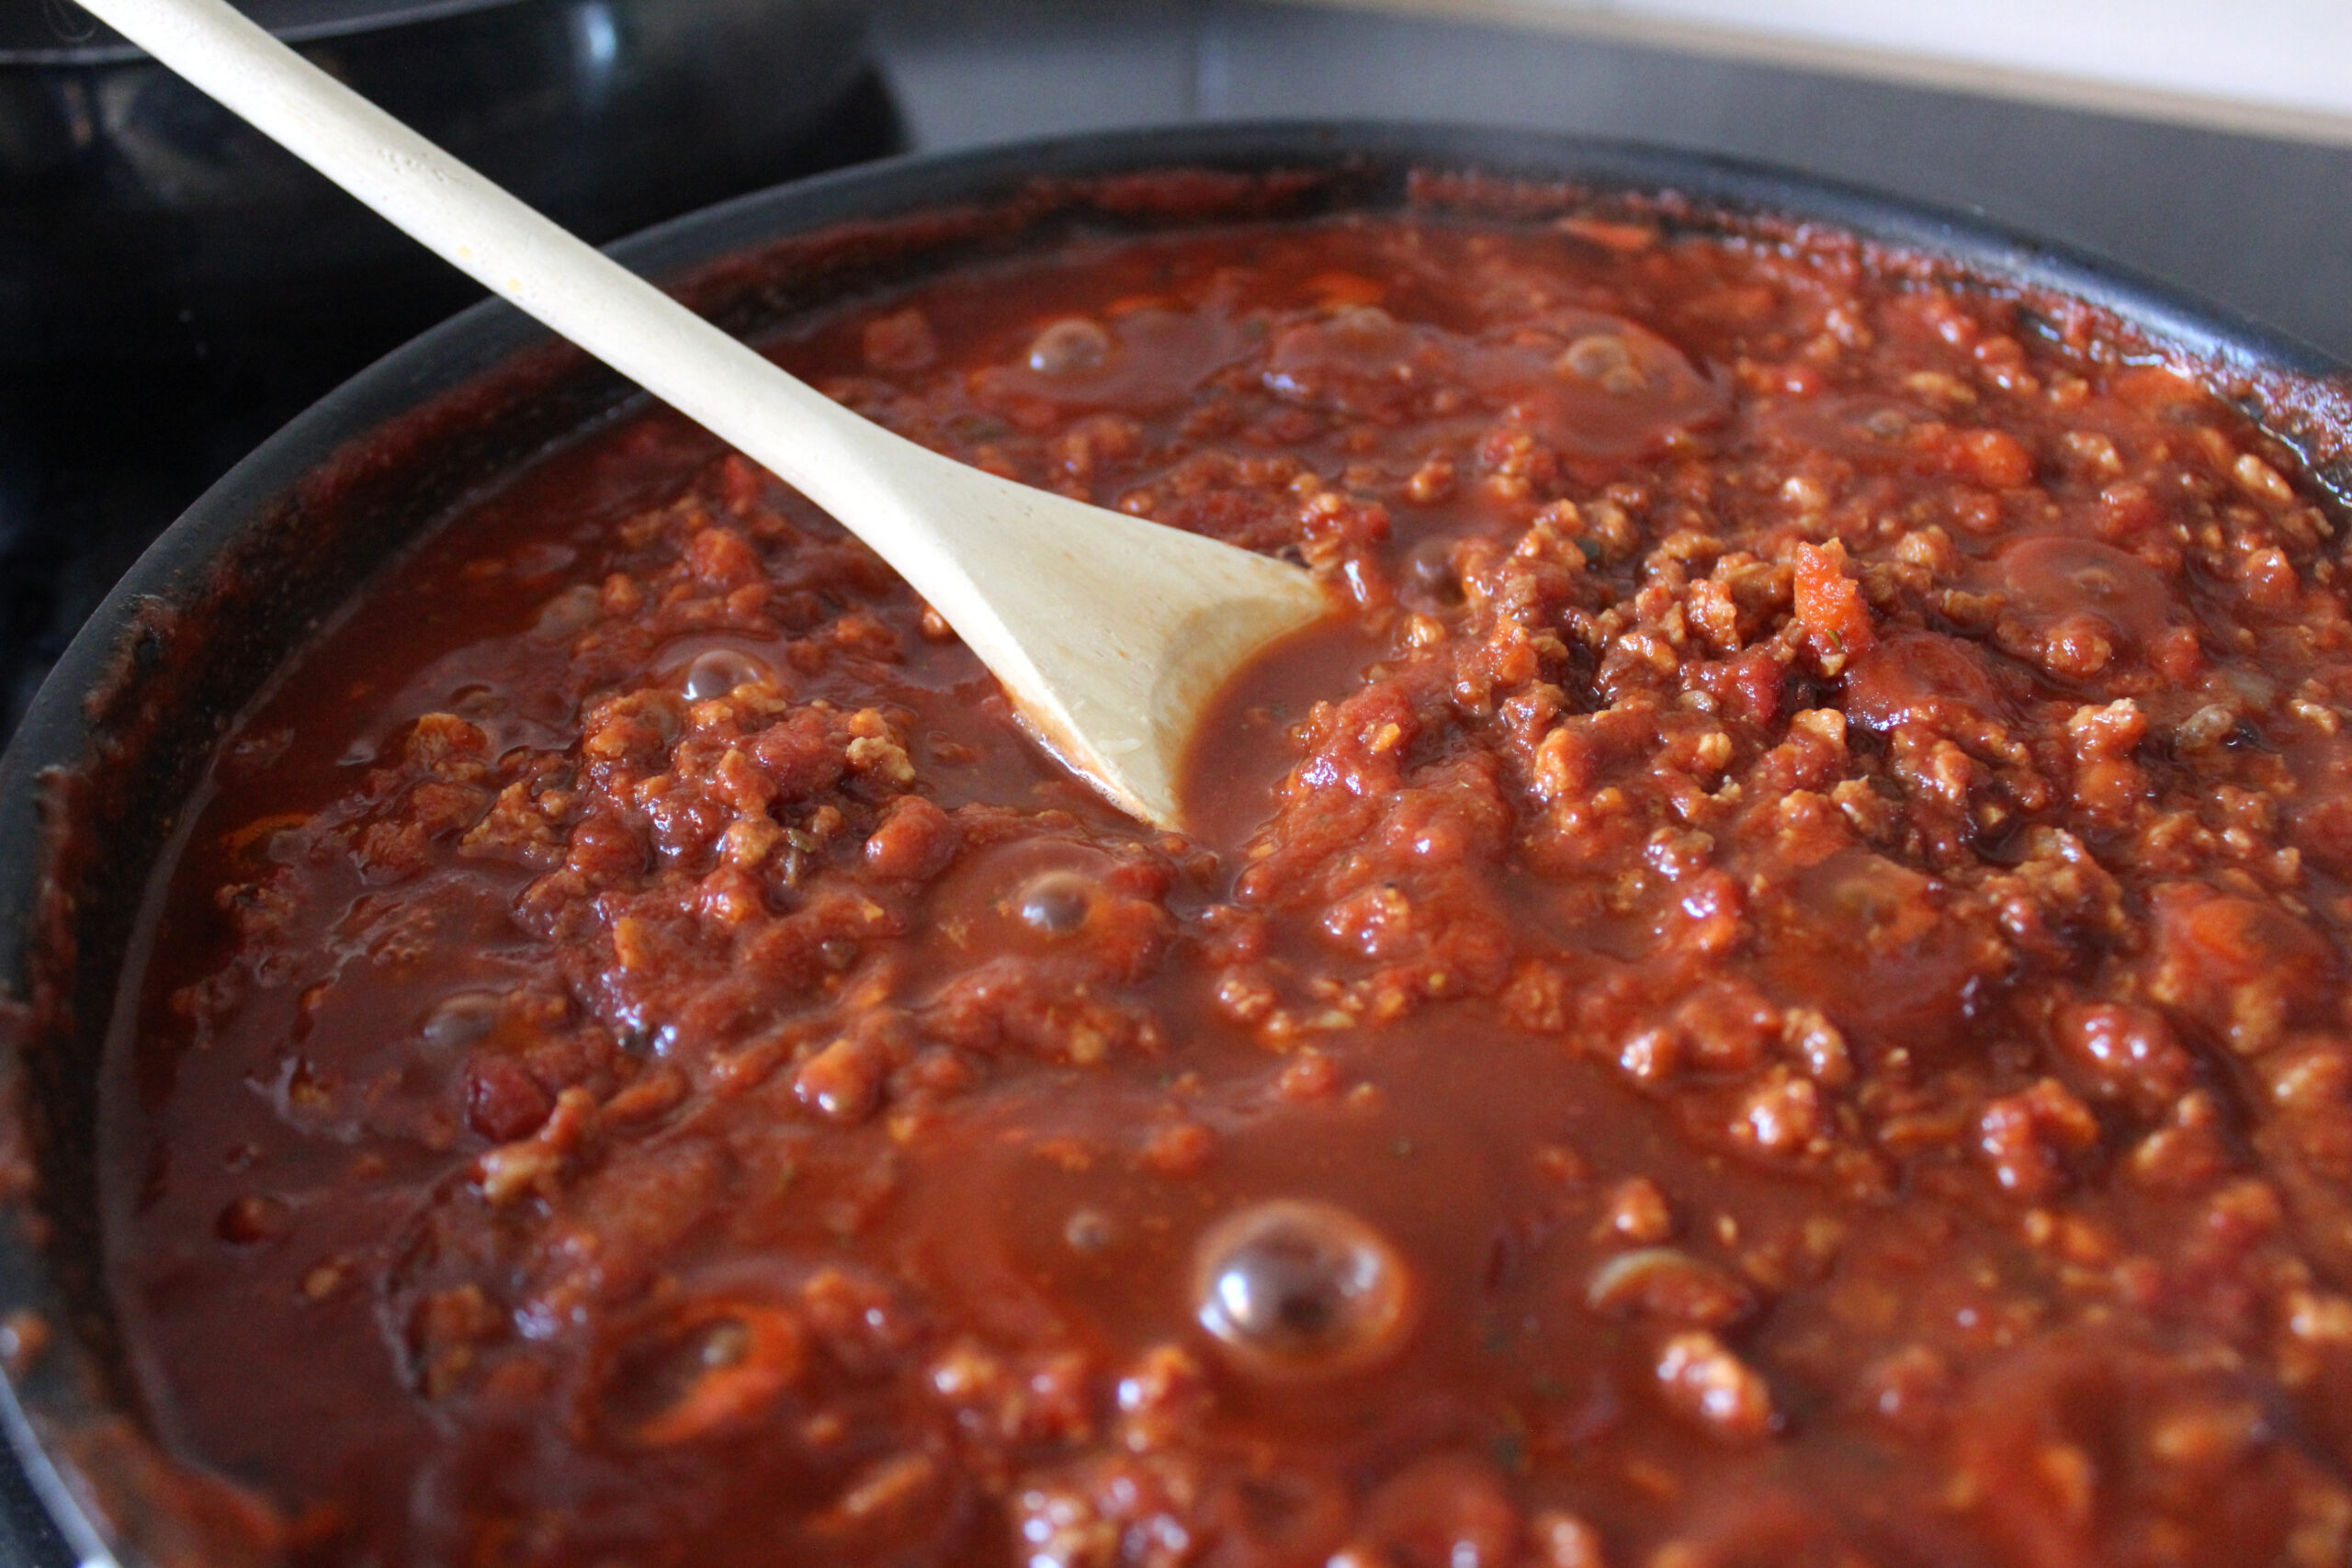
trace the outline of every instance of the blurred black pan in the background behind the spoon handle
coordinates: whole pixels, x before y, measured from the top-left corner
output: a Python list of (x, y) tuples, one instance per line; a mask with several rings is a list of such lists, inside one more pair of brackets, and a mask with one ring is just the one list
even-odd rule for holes
[[(590, 240), (802, 172), (866, 63), (866, 0), (245, 9)], [(390, 346), (475, 294), (66, 0), (0, 9), (0, 364)]]

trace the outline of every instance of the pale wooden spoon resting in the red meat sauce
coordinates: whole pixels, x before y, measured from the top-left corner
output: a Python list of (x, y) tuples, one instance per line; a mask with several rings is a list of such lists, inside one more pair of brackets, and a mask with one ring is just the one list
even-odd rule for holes
[(913, 583), (1030, 731), (1115, 804), (1176, 825), (1202, 705), (1329, 611), (1315, 581), (882, 430), (802, 386), (358, 96), (226, 0), (85, 0), (492, 292), (764, 463)]

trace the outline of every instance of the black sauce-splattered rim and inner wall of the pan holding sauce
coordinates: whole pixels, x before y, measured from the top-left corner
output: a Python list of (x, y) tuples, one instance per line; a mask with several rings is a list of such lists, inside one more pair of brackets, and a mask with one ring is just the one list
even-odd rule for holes
[[(1145, 186), (1127, 176), (1171, 167), (1230, 179), (1190, 181), (1183, 207), (1138, 202)], [(1190, 127), (804, 181), (619, 254), (750, 336), (1054, 226), (1395, 207), (1416, 169), (1675, 190), (1700, 221), (1708, 209), (1818, 219), (2027, 296), (2089, 301), (2300, 444), (2338, 496), (2352, 489), (2352, 378), (2317, 350), (1985, 223), (1689, 153), (1456, 127)], [(1287, 179), (1256, 179), (1270, 172)], [(847, 242), (823, 240), (842, 226)], [(376, 564), (628, 397), (515, 310), (468, 310), (346, 383), (191, 508), (80, 632), (0, 762), (0, 1420), (82, 1561), (207, 1561), (207, 1497), (155, 1462), (129, 1394), (96, 1187), (108, 1025), (179, 811), (233, 715)], [(296, 1359), (256, 1375), (299, 1375)]]

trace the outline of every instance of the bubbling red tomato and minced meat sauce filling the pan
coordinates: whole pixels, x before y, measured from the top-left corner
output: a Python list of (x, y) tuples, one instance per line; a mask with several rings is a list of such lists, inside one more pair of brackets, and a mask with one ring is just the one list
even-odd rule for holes
[(781, 357), (1301, 557), (1192, 835), (647, 414), (226, 745), (118, 1081), (301, 1563), (2340, 1568), (2293, 454), (1835, 235), (1096, 235)]

